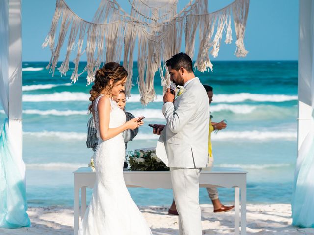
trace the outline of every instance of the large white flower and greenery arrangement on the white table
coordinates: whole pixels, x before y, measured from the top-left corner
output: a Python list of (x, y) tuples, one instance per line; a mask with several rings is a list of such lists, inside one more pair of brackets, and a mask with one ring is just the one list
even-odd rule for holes
[(136, 149), (128, 153), (130, 170), (169, 171), (156, 155), (155, 149)]

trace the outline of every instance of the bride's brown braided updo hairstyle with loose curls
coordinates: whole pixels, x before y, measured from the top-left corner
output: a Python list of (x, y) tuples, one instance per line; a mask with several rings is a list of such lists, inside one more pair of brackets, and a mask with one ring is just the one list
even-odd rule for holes
[[(92, 112), (93, 102), (101, 91), (105, 91), (105, 94), (111, 94), (112, 87), (127, 76), (128, 72), (116, 62), (106, 63), (103, 68), (96, 71), (94, 85), (89, 91), (91, 95), (89, 100), (92, 102), (88, 107), (89, 111)], [(110, 85), (111, 79), (113, 85)]]

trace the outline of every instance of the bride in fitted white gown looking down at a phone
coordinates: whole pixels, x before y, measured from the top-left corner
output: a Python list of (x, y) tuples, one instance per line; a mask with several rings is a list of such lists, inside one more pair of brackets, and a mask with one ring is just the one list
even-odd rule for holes
[(124, 91), (127, 71), (109, 62), (96, 71), (90, 90), (92, 112), (100, 136), (95, 151), (96, 183), (78, 235), (151, 235), (141, 212), (132, 200), (123, 179), (125, 144), (122, 132), (143, 125), (126, 116), (112, 95)]

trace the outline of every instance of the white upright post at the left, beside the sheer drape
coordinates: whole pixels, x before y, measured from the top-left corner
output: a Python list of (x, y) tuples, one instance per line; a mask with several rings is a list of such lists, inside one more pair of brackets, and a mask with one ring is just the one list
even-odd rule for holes
[[(9, 127), (16, 159), (22, 160), (21, 0), (9, 0)], [(22, 161), (17, 161), (22, 162)], [(17, 165), (25, 177), (24, 164)]]

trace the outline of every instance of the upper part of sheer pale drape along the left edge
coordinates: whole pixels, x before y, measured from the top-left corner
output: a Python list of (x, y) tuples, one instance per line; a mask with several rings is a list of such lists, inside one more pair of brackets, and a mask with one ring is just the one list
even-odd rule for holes
[(9, 6), (8, 0), (0, 1), (0, 100), (5, 114), (9, 115)]

